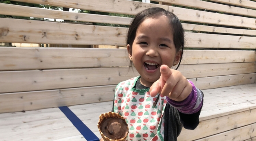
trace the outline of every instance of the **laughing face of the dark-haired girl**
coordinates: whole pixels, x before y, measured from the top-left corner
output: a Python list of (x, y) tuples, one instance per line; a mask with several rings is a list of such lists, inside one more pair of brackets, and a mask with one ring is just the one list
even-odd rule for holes
[(141, 83), (147, 87), (160, 78), (161, 65), (171, 68), (180, 60), (181, 52), (176, 52), (171, 31), (166, 16), (148, 18), (139, 25), (132, 48), (127, 45), (129, 58), (141, 75)]

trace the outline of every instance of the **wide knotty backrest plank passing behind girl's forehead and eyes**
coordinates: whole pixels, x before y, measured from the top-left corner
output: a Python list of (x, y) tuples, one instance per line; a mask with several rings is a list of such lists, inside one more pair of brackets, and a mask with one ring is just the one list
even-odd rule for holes
[[(0, 18), (0, 42), (126, 45), (127, 28)], [(188, 47), (256, 49), (256, 37), (186, 33)]]

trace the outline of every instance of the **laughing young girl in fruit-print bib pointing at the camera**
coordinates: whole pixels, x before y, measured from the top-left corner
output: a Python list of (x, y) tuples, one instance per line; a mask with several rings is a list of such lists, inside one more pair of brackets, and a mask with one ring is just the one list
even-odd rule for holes
[(153, 7), (135, 15), (127, 51), (140, 76), (117, 85), (112, 109), (128, 123), (126, 141), (176, 141), (182, 126), (199, 124), (202, 91), (171, 69), (179, 67), (183, 48), (184, 30), (173, 13)]

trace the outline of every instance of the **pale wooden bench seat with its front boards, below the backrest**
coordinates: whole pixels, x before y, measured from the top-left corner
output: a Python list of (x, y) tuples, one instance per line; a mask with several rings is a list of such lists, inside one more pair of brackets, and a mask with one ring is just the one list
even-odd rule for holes
[[(255, 83), (202, 91), (200, 124), (189, 132), (183, 129), (178, 141), (256, 140)], [(69, 106), (98, 138), (98, 116), (111, 108), (112, 101)], [(2, 113), (0, 119), (1, 141), (86, 141), (59, 108)]]

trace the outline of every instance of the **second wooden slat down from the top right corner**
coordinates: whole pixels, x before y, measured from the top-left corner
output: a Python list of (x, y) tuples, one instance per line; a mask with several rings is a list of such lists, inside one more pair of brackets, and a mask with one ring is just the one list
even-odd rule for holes
[(256, 10), (253, 10), (253, 9), (245, 9), (245, 8), (228, 6), (223, 4), (216, 4), (213, 2), (205, 2), (201, 0), (153, 0), (153, 1), (182, 5), (187, 7), (194, 7), (199, 9), (207, 9), (212, 11), (219, 11), (224, 13), (232, 13), (232, 14), (256, 17)]

